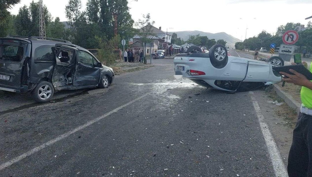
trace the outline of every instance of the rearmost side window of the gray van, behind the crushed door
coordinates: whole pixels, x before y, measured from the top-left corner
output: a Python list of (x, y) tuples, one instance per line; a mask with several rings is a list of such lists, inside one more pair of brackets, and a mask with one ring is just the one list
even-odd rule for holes
[(55, 61), (55, 47), (53, 45), (42, 45), (35, 49), (35, 61)]

